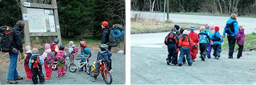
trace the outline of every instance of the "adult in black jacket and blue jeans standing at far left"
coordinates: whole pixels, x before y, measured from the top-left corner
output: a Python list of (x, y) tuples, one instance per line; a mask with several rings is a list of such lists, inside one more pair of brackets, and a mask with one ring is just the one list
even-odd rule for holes
[[(24, 21), (18, 21), (16, 25), (13, 27), (17, 31), (14, 32), (13, 37), (13, 48), (16, 48), (18, 51), (20, 51), (21, 54), (23, 54), (23, 48), (22, 48), (22, 38), (21, 38), (21, 32), (23, 31), (25, 26)], [(9, 52), (10, 56), (10, 65), (9, 65), (9, 71), (7, 80), (9, 84), (17, 84), (18, 82), (15, 80), (22, 80), (23, 78), (18, 75), (18, 72), (16, 70), (17, 68), (17, 59), (18, 59), (18, 51), (12, 51)]]

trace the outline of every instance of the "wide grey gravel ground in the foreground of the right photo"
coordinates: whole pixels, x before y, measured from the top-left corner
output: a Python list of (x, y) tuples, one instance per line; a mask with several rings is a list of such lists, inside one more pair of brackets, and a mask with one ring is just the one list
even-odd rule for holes
[[(213, 52), (212, 52), (213, 53)], [(197, 54), (192, 66), (166, 64), (167, 47), (131, 47), (131, 84), (248, 84), (256, 83), (256, 51), (243, 52), (240, 59), (228, 59), (222, 52), (219, 60), (201, 61)], [(234, 53), (236, 57), (237, 52)]]

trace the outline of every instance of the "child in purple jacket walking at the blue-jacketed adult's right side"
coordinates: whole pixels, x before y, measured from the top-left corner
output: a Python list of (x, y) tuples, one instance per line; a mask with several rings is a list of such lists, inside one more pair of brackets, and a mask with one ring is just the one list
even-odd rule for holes
[(235, 36), (235, 38), (237, 39), (237, 44), (239, 46), (238, 48), (238, 54), (237, 54), (237, 58), (239, 59), (240, 57), (243, 57), (242, 55), (242, 51), (244, 48), (244, 44), (245, 44), (245, 33), (244, 33), (244, 27), (243, 26), (239, 26), (239, 30), (237, 35)]

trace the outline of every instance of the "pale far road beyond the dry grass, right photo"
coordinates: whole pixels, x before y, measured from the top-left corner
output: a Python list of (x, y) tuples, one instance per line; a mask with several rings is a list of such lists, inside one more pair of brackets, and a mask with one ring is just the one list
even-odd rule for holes
[[(163, 21), (163, 13), (131, 11), (130, 17), (134, 17), (134, 14), (141, 14), (142, 18), (155, 18), (159, 21)], [(216, 26), (220, 27), (220, 32), (223, 32), (223, 28), (225, 27), (226, 21), (229, 19), (229, 17), (224, 16), (203, 16), (185, 14), (169, 14), (169, 16), (170, 19), (175, 23), (215, 23)], [(165, 14), (165, 20), (166, 19), (167, 14)], [(256, 32), (256, 18), (237, 17), (237, 22), (239, 25), (244, 26), (246, 34)]]

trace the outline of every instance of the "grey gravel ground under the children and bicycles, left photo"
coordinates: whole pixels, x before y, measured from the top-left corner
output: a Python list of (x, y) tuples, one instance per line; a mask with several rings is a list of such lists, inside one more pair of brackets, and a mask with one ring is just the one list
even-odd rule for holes
[[(112, 84), (113, 85), (123, 85), (125, 84), (125, 60), (126, 57), (125, 55), (122, 54), (113, 54), (112, 55)], [(90, 65), (93, 64), (94, 61), (96, 61), (96, 54), (93, 54), (93, 56), (91, 58), (89, 58), (89, 63)], [(75, 63), (77, 63), (77, 60), (75, 60)], [(8, 69), (9, 66), (4, 67), (4, 66), (0, 66), (0, 69)], [(25, 69), (24, 67), (20, 67), (17, 68), (17, 71), (19, 73), (19, 76), (23, 77), (23, 78), (27, 78), (26, 73), (25, 73)], [(43, 66), (43, 71), (45, 73), (44, 70), (44, 66)], [(7, 84), (7, 72), (4, 71), (0, 71), (0, 84)], [(50, 85), (50, 84), (54, 84), (54, 85), (60, 85), (60, 84), (64, 84), (64, 85), (92, 85), (92, 84), (97, 84), (97, 85), (104, 85), (105, 82), (103, 81), (103, 78), (101, 77), (101, 74), (99, 74), (99, 76), (97, 77), (97, 81), (96, 82), (92, 82), (93, 77), (91, 77), (90, 75), (88, 75), (86, 72), (79, 72), (78, 70), (74, 73), (71, 73), (68, 69), (66, 70), (66, 75), (64, 77), (61, 78), (57, 78), (57, 70), (52, 72), (52, 77), (50, 80), (45, 80), (44, 84)], [(45, 74), (44, 74), (45, 76)], [(39, 80), (38, 80), (39, 82)], [(30, 81), (26, 81), (26, 80), (18, 80), (18, 84), (22, 84), (22, 85), (32, 85), (32, 80)], [(38, 83), (39, 84), (39, 83)]]

